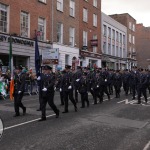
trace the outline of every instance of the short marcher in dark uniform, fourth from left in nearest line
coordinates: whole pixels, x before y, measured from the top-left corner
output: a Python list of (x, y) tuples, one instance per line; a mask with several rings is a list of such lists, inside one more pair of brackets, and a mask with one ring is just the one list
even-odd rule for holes
[(87, 73), (84, 72), (79, 81), (79, 92), (81, 94), (81, 103), (82, 106), (80, 108), (85, 108), (85, 102), (87, 103), (87, 107), (89, 107), (88, 100), (88, 80)]

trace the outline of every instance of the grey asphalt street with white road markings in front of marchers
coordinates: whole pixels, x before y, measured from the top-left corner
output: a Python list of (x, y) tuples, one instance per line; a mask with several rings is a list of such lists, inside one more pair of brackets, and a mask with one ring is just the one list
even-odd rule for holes
[[(143, 99), (143, 98), (142, 98)], [(60, 117), (47, 105), (47, 120), (38, 122), (41, 112), (37, 95), (26, 95), (23, 103), (27, 107), (25, 116), (13, 117), (13, 102), (0, 100), (0, 116), (4, 124), (0, 150), (150, 150), (150, 95), (149, 102), (137, 105), (132, 96), (74, 111), (69, 102), (69, 113), (62, 114), (59, 93), (55, 93), (55, 104)], [(22, 113), (22, 110), (20, 111)]]

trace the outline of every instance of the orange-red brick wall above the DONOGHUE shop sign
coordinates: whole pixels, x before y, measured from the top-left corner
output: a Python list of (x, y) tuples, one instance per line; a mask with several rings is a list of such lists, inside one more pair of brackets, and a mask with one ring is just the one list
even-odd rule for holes
[(51, 1), (47, 0), (46, 4), (38, 0), (0, 0), (0, 3), (6, 4), (10, 8), (10, 34), (20, 35), (20, 13), (21, 11), (30, 14), (30, 38), (34, 37), (34, 31), (38, 29), (38, 17), (46, 19), (46, 39), (50, 39), (50, 14)]

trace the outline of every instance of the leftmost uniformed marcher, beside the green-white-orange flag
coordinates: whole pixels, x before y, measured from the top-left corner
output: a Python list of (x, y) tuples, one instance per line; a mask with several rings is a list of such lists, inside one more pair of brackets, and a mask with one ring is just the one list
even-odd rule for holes
[(26, 107), (22, 104), (22, 98), (25, 91), (25, 73), (22, 72), (22, 67), (17, 66), (15, 69), (15, 77), (14, 77), (14, 108), (15, 115), (14, 117), (20, 116), (19, 107), (23, 110), (23, 115), (26, 114)]

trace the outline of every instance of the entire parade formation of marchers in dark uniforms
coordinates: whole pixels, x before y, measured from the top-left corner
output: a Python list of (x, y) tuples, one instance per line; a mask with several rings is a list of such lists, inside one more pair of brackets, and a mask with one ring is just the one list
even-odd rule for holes
[[(14, 73), (14, 117), (20, 116), (19, 108), (22, 108), (23, 115), (26, 114), (26, 107), (22, 103), (22, 98), (26, 90), (26, 85), (30, 83), (32, 90), (33, 81), (37, 83), (39, 93), (39, 109), (41, 111), (41, 119), (46, 120), (46, 104), (59, 117), (60, 111), (54, 104), (55, 91), (60, 92), (60, 104), (64, 106), (62, 113), (68, 113), (68, 101), (70, 100), (74, 106), (74, 111), (77, 112), (77, 103), (79, 96), (81, 96), (80, 108), (89, 107), (88, 95), (91, 93), (93, 97), (93, 104), (103, 103), (104, 95), (107, 95), (110, 100), (110, 95), (115, 98), (120, 98), (121, 90), (124, 94), (132, 94), (132, 99), (137, 95), (138, 102), (141, 104), (141, 96), (145, 98), (145, 103), (148, 102), (147, 91), (150, 92), (150, 72), (147, 69), (137, 68), (133, 66), (131, 70), (113, 70), (108, 68), (89, 68), (77, 67), (77, 71), (73, 72), (71, 66), (66, 65), (65, 69), (52, 72), (52, 67), (42, 66), (42, 72), (39, 76), (35, 76), (30, 71), (25, 72), (22, 66), (17, 66)], [(0, 82), (6, 83), (9, 86), (9, 74), (2, 74), (0, 72)], [(27, 82), (28, 81), (28, 82)], [(31, 86), (32, 85), (32, 86)], [(6, 86), (6, 87), (7, 87)], [(2, 89), (2, 88), (1, 88)], [(0, 91), (3, 96), (5, 92)]]

